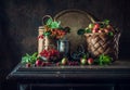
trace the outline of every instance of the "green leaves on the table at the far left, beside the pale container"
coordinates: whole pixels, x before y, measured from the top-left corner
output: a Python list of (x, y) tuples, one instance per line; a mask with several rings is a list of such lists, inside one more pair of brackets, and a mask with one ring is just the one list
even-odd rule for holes
[(26, 64), (26, 63), (31, 63), (34, 64), (37, 61), (37, 52), (35, 52), (32, 55), (29, 55), (28, 53), (26, 53), (25, 56), (22, 56), (22, 63)]

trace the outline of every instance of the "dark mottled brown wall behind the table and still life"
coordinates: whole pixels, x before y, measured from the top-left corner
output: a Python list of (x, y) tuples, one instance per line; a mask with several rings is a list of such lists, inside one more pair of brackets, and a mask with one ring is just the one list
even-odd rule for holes
[(54, 16), (66, 9), (79, 9), (100, 20), (110, 20), (121, 30), (119, 59), (130, 59), (129, 3), (129, 0), (0, 0), (0, 83), (8, 86), (5, 77), (22, 55), (37, 51), (42, 16)]

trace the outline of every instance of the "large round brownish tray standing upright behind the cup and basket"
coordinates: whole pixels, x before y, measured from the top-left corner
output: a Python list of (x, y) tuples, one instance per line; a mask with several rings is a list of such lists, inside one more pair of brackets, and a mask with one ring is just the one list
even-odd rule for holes
[(54, 16), (55, 21), (61, 21), (63, 27), (70, 27), (70, 34), (67, 39), (70, 42), (70, 53), (76, 51), (82, 44), (86, 49), (86, 37), (77, 35), (78, 29), (86, 28), (90, 23), (94, 22), (92, 15), (81, 10), (64, 10)]

